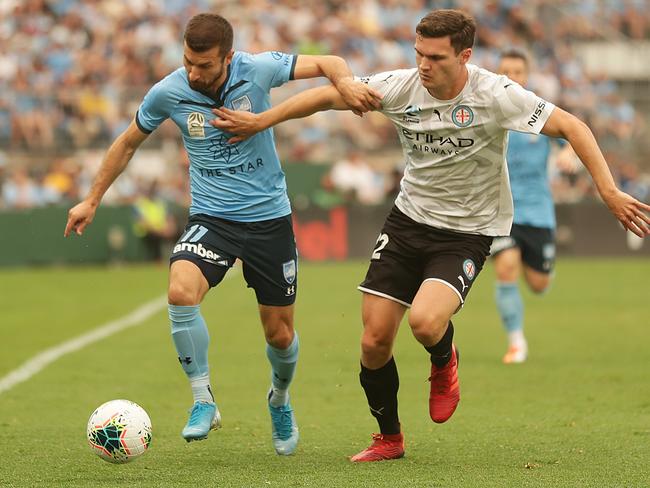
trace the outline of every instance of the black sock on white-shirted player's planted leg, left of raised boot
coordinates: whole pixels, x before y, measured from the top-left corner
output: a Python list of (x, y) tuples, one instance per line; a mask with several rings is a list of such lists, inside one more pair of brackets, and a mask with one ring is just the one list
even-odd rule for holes
[(399, 376), (395, 359), (390, 360), (379, 369), (368, 369), (363, 364), (359, 380), (368, 399), (370, 413), (377, 419), (382, 434), (399, 434), (397, 417), (397, 390)]

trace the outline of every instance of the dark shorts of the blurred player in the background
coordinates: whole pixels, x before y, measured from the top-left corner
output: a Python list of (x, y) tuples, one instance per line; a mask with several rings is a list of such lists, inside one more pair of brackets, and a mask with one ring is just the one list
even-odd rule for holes
[(521, 260), (540, 273), (549, 274), (555, 266), (555, 233), (546, 227), (513, 224), (509, 237), (497, 237), (491, 253), (496, 256), (506, 249), (521, 251)]

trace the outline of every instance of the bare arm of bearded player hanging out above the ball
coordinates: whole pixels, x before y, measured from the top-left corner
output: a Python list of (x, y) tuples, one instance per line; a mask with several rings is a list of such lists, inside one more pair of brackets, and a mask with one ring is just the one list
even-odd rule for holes
[(72, 231), (81, 235), (93, 221), (104, 193), (113, 184), (115, 178), (124, 171), (133, 153), (148, 135), (142, 132), (133, 120), (126, 130), (115, 139), (108, 149), (97, 175), (95, 175), (88, 195), (68, 212), (68, 222), (63, 231), (65, 237), (68, 237)]

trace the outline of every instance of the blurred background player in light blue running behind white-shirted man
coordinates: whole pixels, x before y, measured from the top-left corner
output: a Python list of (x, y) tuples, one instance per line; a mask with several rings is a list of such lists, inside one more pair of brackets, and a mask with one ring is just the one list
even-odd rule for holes
[[(500, 74), (525, 87), (528, 72), (523, 52), (511, 50), (501, 55)], [(508, 351), (503, 356), (506, 364), (522, 363), (528, 355), (519, 276), (523, 272), (528, 287), (543, 293), (550, 285), (555, 263), (555, 208), (547, 167), (551, 141), (543, 134), (511, 131), (508, 135), (506, 159), (515, 213), (510, 236), (494, 239), (491, 250), (497, 308), (508, 333)], [(555, 141), (563, 146), (559, 158), (573, 156), (570, 145), (562, 139)]]

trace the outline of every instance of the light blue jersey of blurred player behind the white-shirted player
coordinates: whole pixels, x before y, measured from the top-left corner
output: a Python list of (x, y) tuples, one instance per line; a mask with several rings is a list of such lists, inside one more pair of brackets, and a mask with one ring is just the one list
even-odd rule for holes
[(511, 131), (508, 135), (506, 159), (515, 224), (555, 229), (555, 207), (547, 167), (550, 152), (551, 141), (542, 134)]

